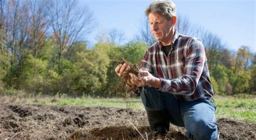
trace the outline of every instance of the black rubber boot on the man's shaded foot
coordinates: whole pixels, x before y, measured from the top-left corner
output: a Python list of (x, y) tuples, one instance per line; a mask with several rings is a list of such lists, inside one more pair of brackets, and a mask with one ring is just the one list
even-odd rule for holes
[(146, 111), (152, 130), (152, 132), (147, 135), (166, 135), (170, 127), (170, 120), (166, 109), (146, 109)]

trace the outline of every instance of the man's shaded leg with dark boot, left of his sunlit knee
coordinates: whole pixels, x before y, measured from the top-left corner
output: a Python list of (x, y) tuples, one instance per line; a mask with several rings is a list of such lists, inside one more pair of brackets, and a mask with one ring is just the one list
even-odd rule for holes
[[(168, 126), (167, 130), (169, 130), (169, 122), (179, 127), (184, 127), (180, 117), (178, 101), (171, 93), (160, 92), (153, 87), (144, 87), (144, 92), (142, 92), (142, 88), (140, 91), (140, 97), (147, 111), (151, 128), (153, 127), (152, 124), (154, 124), (152, 122), (156, 120), (158, 120), (156, 122), (165, 120), (164, 124)], [(157, 115), (153, 115), (155, 113)]]

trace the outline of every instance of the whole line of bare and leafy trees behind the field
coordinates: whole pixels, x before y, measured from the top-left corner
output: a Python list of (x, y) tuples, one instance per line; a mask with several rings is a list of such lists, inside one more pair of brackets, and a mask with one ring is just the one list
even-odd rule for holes
[[(121, 96), (115, 60), (140, 65), (154, 43), (148, 23), (128, 43), (112, 29), (88, 48), (86, 37), (95, 27), (88, 8), (75, 0), (0, 0), (0, 93), (24, 90), (31, 94)], [(249, 46), (228, 50), (221, 39), (178, 16), (180, 33), (198, 37), (205, 45), (215, 94), (255, 94), (256, 54)]]

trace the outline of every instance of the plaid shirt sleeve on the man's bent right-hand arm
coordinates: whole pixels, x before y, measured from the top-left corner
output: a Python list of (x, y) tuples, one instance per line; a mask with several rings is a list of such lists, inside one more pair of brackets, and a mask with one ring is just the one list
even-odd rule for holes
[(179, 95), (192, 95), (205, 65), (204, 45), (198, 39), (193, 39), (186, 50), (184, 74), (180, 79), (160, 79), (163, 92)]

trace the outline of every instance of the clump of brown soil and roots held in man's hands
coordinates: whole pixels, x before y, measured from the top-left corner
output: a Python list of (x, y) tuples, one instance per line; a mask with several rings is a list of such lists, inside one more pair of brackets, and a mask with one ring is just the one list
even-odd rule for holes
[(116, 60), (118, 64), (126, 64), (127, 67), (130, 67), (130, 69), (127, 69), (126, 73), (123, 74), (121, 77), (122, 80), (122, 86), (124, 87), (125, 91), (128, 93), (131, 93), (135, 96), (139, 96), (138, 88), (136, 86), (132, 85), (131, 83), (128, 83), (127, 81), (131, 80), (131, 76), (129, 73), (132, 73), (136, 75), (139, 79), (142, 77), (139, 72), (139, 67), (137, 64), (131, 64), (131, 62), (123, 60)]

